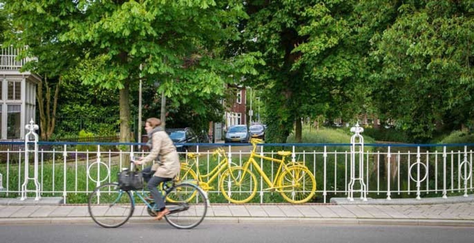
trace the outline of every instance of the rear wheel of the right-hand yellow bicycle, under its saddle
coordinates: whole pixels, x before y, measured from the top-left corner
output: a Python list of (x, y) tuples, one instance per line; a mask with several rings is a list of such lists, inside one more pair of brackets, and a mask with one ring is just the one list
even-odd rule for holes
[(316, 180), (306, 166), (295, 165), (283, 171), (278, 178), (277, 186), (285, 200), (291, 203), (304, 203), (313, 197)]

